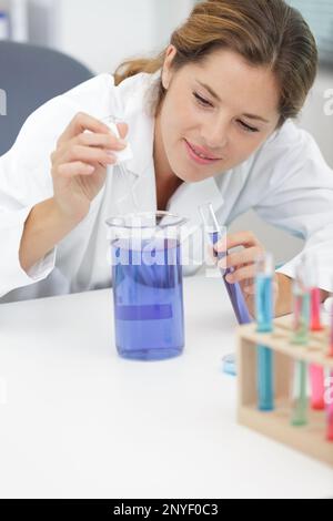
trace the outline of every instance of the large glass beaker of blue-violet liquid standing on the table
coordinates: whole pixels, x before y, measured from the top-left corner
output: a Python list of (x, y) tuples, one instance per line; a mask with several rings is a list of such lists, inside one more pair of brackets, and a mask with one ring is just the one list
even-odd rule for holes
[(180, 231), (185, 222), (168, 212), (107, 221), (115, 345), (123, 358), (161, 360), (183, 350)]

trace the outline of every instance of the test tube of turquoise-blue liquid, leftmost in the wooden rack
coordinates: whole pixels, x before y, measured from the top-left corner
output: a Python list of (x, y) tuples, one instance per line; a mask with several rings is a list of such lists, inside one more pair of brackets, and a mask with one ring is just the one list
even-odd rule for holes
[[(255, 264), (255, 315), (256, 330), (273, 330), (273, 257), (265, 253)], [(258, 346), (258, 408), (262, 411), (274, 409), (273, 353), (264, 346)]]

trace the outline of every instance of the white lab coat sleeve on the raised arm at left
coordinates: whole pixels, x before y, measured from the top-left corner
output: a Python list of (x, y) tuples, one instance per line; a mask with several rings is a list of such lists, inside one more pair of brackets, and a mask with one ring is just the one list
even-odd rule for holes
[(12, 149), (0, 157), (0, 297), (46, 278), (54, 268), (57, 247), (26, 273), (19, 262), (24, 223), (31, 208), (53, 196), (51, 153), (73, 116), (97, 119), (117, 112), (113, 78), (99, 74), (34, 111)]

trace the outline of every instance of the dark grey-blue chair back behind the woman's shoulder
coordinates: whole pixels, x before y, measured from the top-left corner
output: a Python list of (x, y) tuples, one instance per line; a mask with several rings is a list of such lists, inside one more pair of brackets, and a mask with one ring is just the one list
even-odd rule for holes
[(61, 52), (0, 41), (0, 156), (38, 106), (92, 76), (89, 69)]

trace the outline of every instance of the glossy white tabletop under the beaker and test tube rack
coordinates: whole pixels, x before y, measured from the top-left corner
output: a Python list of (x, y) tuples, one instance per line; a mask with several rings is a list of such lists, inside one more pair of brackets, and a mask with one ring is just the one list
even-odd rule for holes
[(155, 362), (117, 355), (111, 290), (0, 306), (1, 498), (333, 496), (329, 467), (236, 425), (222, 282), (184, 298), (184, 354)]

